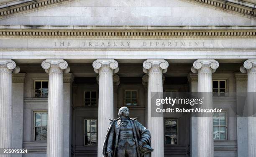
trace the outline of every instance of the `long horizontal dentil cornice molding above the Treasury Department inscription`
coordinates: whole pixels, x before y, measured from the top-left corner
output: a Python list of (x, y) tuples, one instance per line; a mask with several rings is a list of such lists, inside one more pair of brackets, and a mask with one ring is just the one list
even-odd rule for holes
[(56, 30), (0, 29), (0, 38), (255, 38), (256, 29), (244, 30)]

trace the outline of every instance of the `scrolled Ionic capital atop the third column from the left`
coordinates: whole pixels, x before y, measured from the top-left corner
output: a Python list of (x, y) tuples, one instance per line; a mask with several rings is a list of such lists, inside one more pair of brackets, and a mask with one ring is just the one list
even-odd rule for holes
[(108, 67), (113, 70), (113, 73), (118, 73), (118, 62), (113, 59), (100, 59), (92, 63), (95, 73), (100, 73), (99, 69), (102, 67)]

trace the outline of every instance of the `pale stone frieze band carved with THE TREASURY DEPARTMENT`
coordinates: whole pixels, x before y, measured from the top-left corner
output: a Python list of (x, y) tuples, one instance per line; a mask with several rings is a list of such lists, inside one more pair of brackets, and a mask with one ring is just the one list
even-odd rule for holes
[(255, 39), (0, 39), (1, 48), (256, 48)]

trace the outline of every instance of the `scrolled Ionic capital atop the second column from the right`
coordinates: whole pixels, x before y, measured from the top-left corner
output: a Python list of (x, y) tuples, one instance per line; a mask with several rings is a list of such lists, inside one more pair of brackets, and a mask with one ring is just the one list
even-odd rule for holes
[(191, 71), (193, 73), (214, 73), (219, 65), (214, 59), (198, 59), (193, 63)]

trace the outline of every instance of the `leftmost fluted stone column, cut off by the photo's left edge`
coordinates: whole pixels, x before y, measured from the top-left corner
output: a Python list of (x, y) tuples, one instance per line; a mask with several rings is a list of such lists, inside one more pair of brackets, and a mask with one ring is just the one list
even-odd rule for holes
[(15, 67), (14, 61), (0, 59), (0, 148), (7, 149), (12, 148), (12, 73), (19, 72)]

